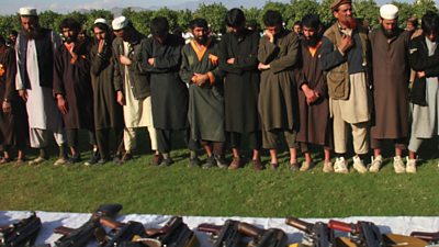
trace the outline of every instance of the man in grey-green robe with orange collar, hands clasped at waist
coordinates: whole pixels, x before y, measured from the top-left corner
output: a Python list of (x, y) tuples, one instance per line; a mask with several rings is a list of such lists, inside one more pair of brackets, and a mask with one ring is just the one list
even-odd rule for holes
[[(227, 164), (222, 158), (225, 142), (224, 98), (223, 77), (217, 67), (217, 43), (209, 36), (204, 19), (193, 20), (190, 29), (194, 38), (182, 49), (180, 69), (181, 79), (189, 85), (190, 138), (200, 141), (207, 154), (203, 168), (226, 168)], [(190, 165), (198, 166), (193, 159)]]

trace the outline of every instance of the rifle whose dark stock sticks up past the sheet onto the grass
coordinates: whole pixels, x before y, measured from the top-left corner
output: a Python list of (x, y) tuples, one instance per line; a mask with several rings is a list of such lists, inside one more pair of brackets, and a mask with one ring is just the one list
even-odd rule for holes
[[(122, 210), (121, 204), (103, 204), (100, 205), (91, 215), (90, 220), (81, 225), (79, 228), (69, 228), (59, 226), (54, 229), (54, 233), (63, 234), (58, 240), (55, 242), (54, 247), (85, 247), (93, 238), (95, 232), (104, 232), (100, 224), (100, 218), (115, 217)], [(50, 245), (43, 245), (49, 247)], [(43, 247), (40, 246), (40, 247)]]

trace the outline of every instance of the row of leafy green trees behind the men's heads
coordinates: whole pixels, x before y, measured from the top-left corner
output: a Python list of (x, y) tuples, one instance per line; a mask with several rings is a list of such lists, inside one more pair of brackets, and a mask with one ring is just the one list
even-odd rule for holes
[[(334, 0), (291, 0), (290, 3), (268, 1), (261, 9), (241, 7), (247, 21), (256, 22), (263, 26), (262, 15), (267, 10), (278, 10), (282, 13), (286, 27), (292, 27), (294, 22), (300, 21), (307, 13), (317, 13), (324, 24), (329, 25), (334, 21), (329, 5)], [(428, 10), (439, 12), (434, 0), (417, 0), (413, 3), (393, 1), (393, 4), (399, 8), (399, 25), (405, 25), (408, 18), (420, 18)], [(356, 16), (368, 21), (371, 26), (379, 24), (380, 5), (374, 0), (353, 0), (352, 2)], [(166, 16), (169, 20), (171, 30), (180, 27), (183, 31), (188, 23), (194, 18), (204, 18), (211, 24), (215, 33), (224, 33), (226, 25), (224, 22), (227, 8), (223, 3), (201, 3), (196, 10), (171, 10), (161, 8), (158, 10), (137, 11), (134, 8), (125, 8), (122, 15), (132, 20), (134, 26), (144, 34), (149, 34), (149, 22), (156, 16)], [(58, 30), (59, 22), (65, 18), (75, 18), (82, 23), (85, 30), (89, 30), (93, 21), (98, 18), (112, 20), (113, 13), (109, 10), (90, 10), (87, 12), (72, 11), (66, 14), (57, 13), (50, 10), (40, 12), (40, 23), (44, 27)], [(7, 36), (12, 30), (21, 30), (18, 14), (0, 15), (0, 34)]]

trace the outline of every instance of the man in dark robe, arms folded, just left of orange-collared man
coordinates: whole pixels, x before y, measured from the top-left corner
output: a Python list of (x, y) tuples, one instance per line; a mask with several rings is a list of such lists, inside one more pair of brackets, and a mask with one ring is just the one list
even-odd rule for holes
[(185, 131), (188, 122), (188, 88), (179, 76), (184, 40), (169, 33), (168, 20), (162, 16), (153, 19), (150, 33), (143, 42), (139, 66), (150, 75), (154, 127), (164, 157), (160, 166), (169, 166), (173, 162), (171, 134)]

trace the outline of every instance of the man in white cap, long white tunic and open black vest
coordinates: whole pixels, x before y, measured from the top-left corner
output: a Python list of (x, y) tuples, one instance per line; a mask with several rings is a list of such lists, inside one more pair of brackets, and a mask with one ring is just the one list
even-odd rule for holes
[(31, 147), (40, 155), (30, 165), (38, 165), (48, 158), (48, 132), (53, 132), (59, 146), (55, 165), (66, 160), (63, 120), (53, 97), (54, 50), (61, 45), (59, 36), (52, 30), (40, 26), (36, 9), (21, 8), (20, 21), (23, 30), (16, 40), (16, 90), (26, 102)]

